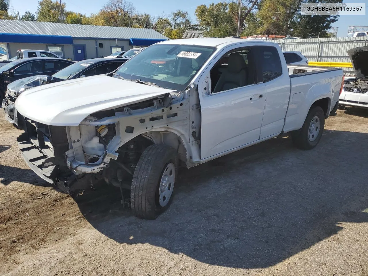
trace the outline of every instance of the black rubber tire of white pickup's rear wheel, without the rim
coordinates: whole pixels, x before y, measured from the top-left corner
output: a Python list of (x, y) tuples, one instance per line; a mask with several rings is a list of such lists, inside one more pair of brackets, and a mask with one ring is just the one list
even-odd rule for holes
[[(314, 141), (310, 141), (310, 139), (308, 138), (309, 126), (315, 116), (317, 116), (319, 120), (319, 132), (318, 135), (316, 135), (317, 137), (314, 139)], [(307, 118), (305, 118), (302, 128), (295, 131), (291, 135), (294, 145), (297, 148), (305, 150), (314, 148), (318, 144), (319, 140), (321, 140), (324, 127), (325, 113), (323, 112), (323, 109), (319, 106), (312, 107), (308, 112)]]

